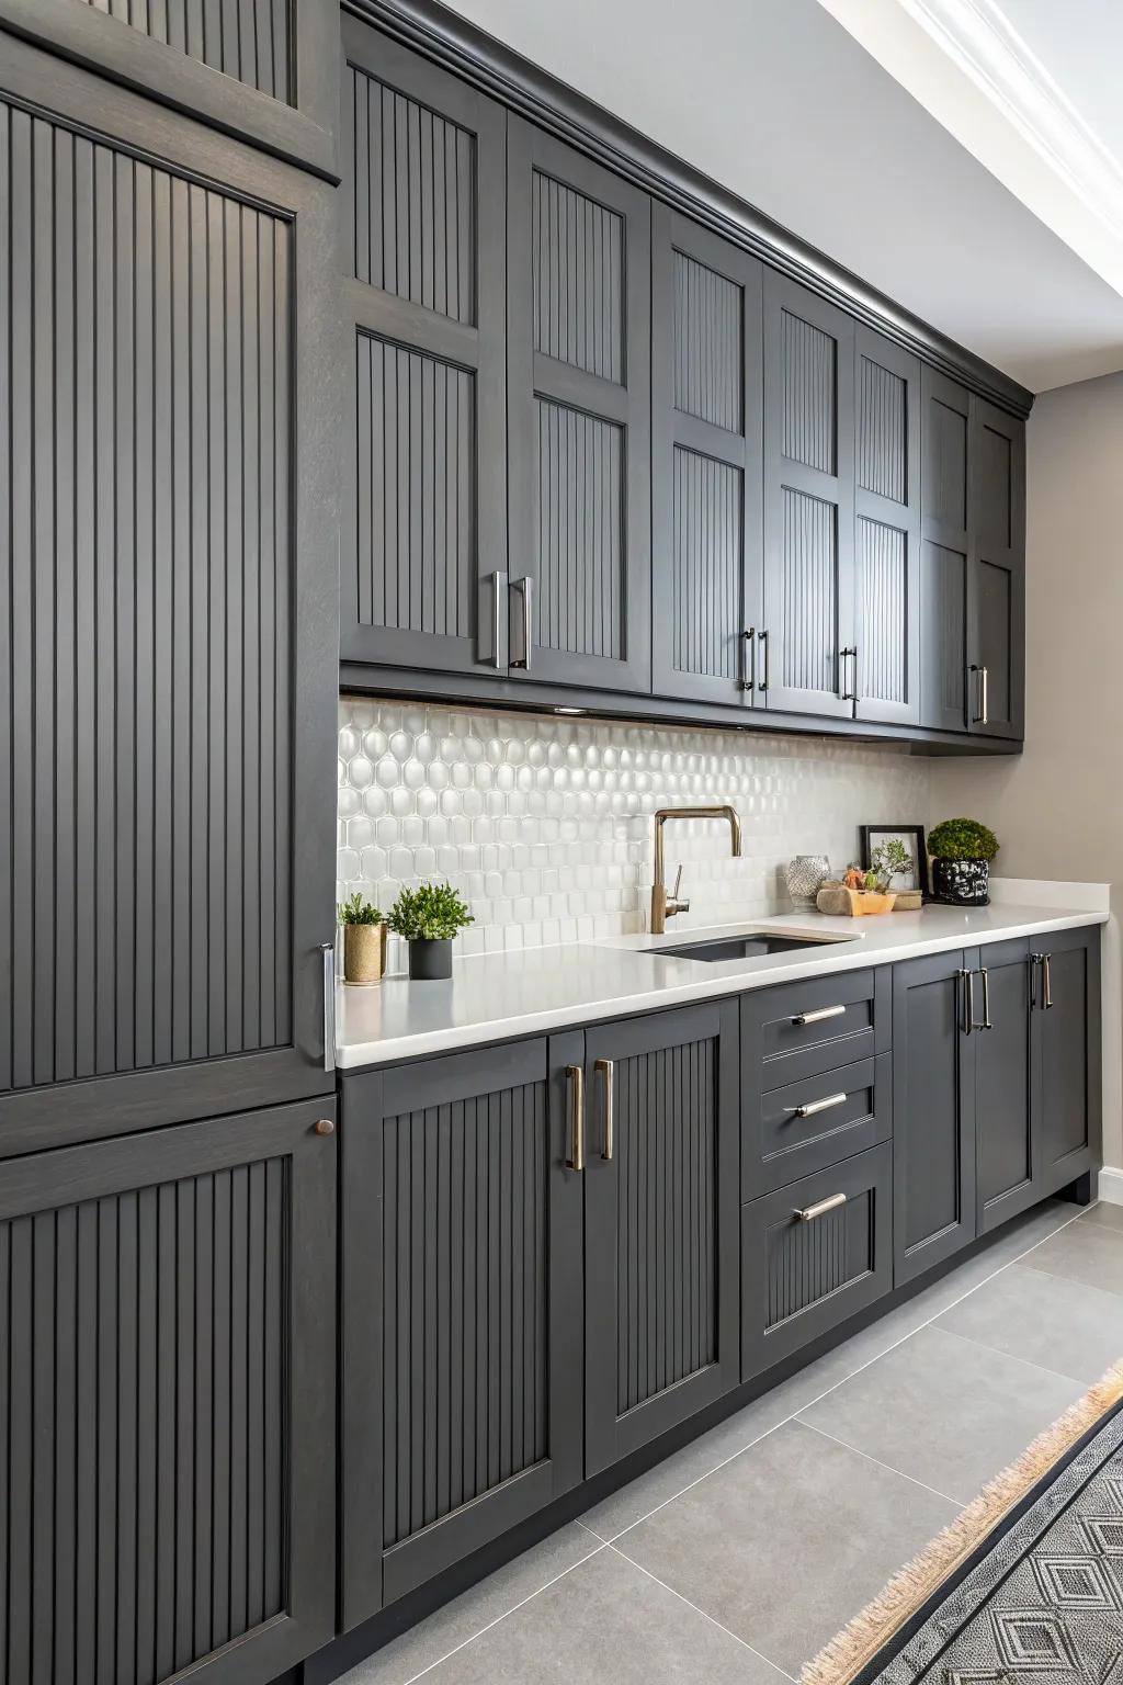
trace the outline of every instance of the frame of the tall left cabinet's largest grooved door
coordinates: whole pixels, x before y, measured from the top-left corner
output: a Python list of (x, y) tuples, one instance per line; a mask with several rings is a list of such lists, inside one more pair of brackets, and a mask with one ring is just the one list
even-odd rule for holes
[[(74, 5), (74, 10), (86, 10)], [(104, 19), (98, 20), (104, 24)], [(128, 35), (128, 29), (113, 22)], [(323, 873), (333, 846), (338, 731), (338, 403), (335, 194), (315, 177), (160, 110), (24, 40), (5, 37), (5, 94), (109, 148), (216, 192), (256, 202), (291, 227), (290, 699), (291, 1043), (184, 1060), (0, 1095), (0, 1156), (268, 1105), (333, 1090), (323, 1068), (323, 955), (335, 930)], [(94, 895), (91, 883), (89, 893)], [(111, 917), (111, 915), (109, 915)], [(172, 962), (172, 957), (168, 957)]]

